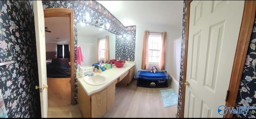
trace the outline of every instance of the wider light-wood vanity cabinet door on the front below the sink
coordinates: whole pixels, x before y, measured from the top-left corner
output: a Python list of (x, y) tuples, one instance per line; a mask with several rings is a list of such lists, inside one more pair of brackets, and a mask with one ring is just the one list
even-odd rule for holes
[(107, 112), (107, 89), (93, 94), (91, 99), (92, 118), (101, 118)]

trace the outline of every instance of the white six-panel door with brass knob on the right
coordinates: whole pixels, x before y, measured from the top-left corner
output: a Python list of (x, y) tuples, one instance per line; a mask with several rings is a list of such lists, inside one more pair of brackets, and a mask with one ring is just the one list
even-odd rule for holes
[(223, 117), (244, 1), (190, 3), (184, 117)]

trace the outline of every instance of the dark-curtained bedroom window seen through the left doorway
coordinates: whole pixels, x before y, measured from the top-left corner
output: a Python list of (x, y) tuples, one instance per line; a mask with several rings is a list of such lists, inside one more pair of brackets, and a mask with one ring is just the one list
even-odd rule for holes
[(57, 58), (70, 58), (68, 45), (57, 45)]

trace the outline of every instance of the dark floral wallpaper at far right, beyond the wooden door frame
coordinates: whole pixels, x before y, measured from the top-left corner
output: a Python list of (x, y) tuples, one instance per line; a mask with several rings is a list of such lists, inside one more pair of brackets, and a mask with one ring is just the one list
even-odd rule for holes
[[(246, 62), (242, 73), (240, 87), (236, 98), (236, 107), (256, 106), (256, 18), (254, 19)], [(256, 118), (256, 109), (249, 109), (247, 115), (233, 114), (234, 118)]]

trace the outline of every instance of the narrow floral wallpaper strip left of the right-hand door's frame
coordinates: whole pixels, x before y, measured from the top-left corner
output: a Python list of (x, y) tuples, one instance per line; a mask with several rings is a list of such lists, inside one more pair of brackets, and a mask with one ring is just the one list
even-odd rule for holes
[(184, 68), (184, 58), (185, 58), (185, 32), (186, 32), (186, 17), (187, 17), (187, 1), (183, 1), (183, 20), (182, 20), (182, 43), (181, 43), (181, 58), (180, 58), (180, 84), (178, 93), (178, 111), (177, 115), (180, 117), (181, 103), (182, 103), (182, 82), (183, 82), (183, 68)]

